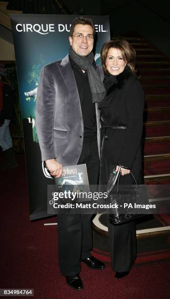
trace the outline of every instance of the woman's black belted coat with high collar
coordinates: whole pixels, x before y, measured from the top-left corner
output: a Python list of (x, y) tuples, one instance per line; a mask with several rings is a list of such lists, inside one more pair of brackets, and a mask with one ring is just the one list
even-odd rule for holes
[[(141, 136), (144, 109), (142, 86), (128, 66), (117, 76), (106, 76), (104, 85), (106, 97), (99, 104), (102, 124), (126, 127), (101, 130), (102, 138), (104, 131), (108, 136), (104, 141), (107, 167), (113, 164), (130, 169), (138, 184), (142, 184)], [(130, 184), (130, 175), (121, 177), (121, 181), (123, 184)], [(104, 181), (102, 183), (105, 184)]]

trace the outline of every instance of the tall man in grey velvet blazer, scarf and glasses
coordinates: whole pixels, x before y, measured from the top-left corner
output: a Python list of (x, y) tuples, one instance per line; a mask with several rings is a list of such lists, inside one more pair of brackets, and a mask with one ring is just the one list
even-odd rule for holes
[[(76, 18), (70, 28), (69, 55), (43, 67), (37, 94), (36, 128), (51, 175), (62, 175), (62, 166), (86, 164), (90, 185), (99, 174), (99, 111), (105, 95), (92, 53), (95, 27), (91, 19)], [(100, 75), (101, 72), (101, 75)], [(58, 215), (59, 265), (67, 284), (83, 289), (81, 261), (93, 269), (105, 265), (90, 255), (91, 215)]]

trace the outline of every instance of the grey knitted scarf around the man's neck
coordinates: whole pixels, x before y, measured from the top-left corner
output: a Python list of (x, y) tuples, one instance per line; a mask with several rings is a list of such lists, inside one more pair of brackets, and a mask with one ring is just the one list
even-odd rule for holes
[(87, 71), (88, 81), (92, 93), (92, 102), (101, 102), (105, 96), (105, 87), (92, 65), (94, 61), (93, 52), (87, 56), (79, 56), (76, 52), (74, 52), (72, 47), (70, 47), (69, 55), (78, 67)]

